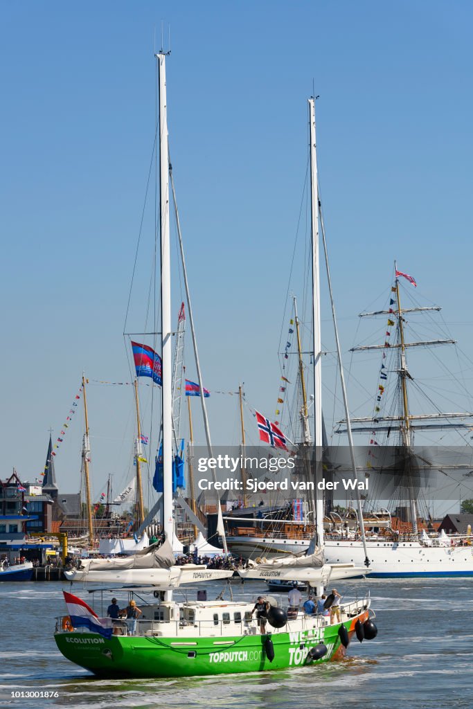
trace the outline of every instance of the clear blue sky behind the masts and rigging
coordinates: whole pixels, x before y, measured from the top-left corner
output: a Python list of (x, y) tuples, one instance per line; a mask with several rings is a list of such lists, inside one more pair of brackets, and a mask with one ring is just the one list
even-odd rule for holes
[[(171, 28), (169, 133), (206, 386), (245, 381), (248, 401), (274, 410), (313, 85), (343, 349), (357, 313), (384, 303), (396, 258), (471, 351), (469, 2), (27, 1), (0, 11), (2, 478), (13, 466), (22, 479), (43, 469), (48, 429), (59, 435), (82, 371), (130, 381), (123, 323), (162, 21), (166, 35)], [(145, 321), (148, 222), (133, 331)], [(174, 296), (177, 313), (179, 283)], [(194, 378), (191, 362), (188, 372)], [(353, 408), (365, 398), (353, 389)], [(109, 472), (118, 487), (130, 471), (130, 387), (91, 386), (89, 409), (98, 496)], [(209, 411), (213, 440), (236, 442), (235, 399), (215, 395)], [(57, 454), (63, 491), (78, 486), (81, 435), (74, 420)]]

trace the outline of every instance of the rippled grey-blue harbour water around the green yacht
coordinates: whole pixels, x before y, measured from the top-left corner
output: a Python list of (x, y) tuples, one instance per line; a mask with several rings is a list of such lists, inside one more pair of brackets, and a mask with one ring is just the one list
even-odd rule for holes
[[(123, 681), (96, 679), (57, 650), (55, 618), (66, 613), (62, 590), (70, 591), (70, 584), (0, 584), (0, 705), (28, 709), (470, 708), (472, 584), (470, 579), (338, 581), (343, 600), (370, 591), (379, 631), (375, 640), (362, 644), (354, 638), (345, 661), (254, 674)], [(235, 600), (252, 600), (266, 591), (255, 581), (231, 586)], [(206, 588), (208, 600), (221, 590), (218, 584)], [(91, 603), (82, 586), (74, 586), (72, 593)], [(195, 594), (195, 589), (189, 591), (189, 598)], [(126, 594), (115, 595), (118, 604), (125, 605)], [(105, 608), (111, 596), (104, 593)], [(99, 615), (103, 612), (100, 601), (95, 610)], [(41, 692), (53, 696), (34, 696)]]

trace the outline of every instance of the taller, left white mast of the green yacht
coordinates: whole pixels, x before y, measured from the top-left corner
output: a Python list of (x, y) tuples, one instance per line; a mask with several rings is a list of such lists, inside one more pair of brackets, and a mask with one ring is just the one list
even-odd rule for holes
[(166, 55), (156, 55), (160, 96), (160, 240), (161, 240), (161, 352), (162, 352), (162, 466), (163, 530), (172, 544), (172, 330), (171, 257), (169, 247), (169, 147), (167, 134)]

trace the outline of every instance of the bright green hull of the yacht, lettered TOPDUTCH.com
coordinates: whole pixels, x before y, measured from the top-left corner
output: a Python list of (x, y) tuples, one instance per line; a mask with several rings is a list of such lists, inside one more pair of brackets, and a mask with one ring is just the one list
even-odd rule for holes
[[(358, 616), (367, 618), (367, 613)], [(351, 639), (357, 618), (343, 623)], [(340, 625), (271, 635), (274, 659), (265, 650), (268, 635), (230, 637), (121, 637), (110, 640), (89, 632), (57, 632), (60, 652), (75, 664), (104, 677), (189, 677), (262, 672), (307, 664), (308, 651), (323, 642), (328, 652), (318, 662), (341, 659)]]

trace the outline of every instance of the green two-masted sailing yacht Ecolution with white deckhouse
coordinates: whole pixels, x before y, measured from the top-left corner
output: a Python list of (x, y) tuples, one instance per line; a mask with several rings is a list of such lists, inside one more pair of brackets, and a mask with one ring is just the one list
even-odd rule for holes
[[(169, 157), (167, 145), (167, 101), (165, 52), (156, 55), (160, 99), (160, 238), (162, 259), (162, 440), (164, 465), (163, 527), (165, 545), (172, 539), (172, 327), (169, 257)], [(311, 160), (315, 165), (315, 109), (309, 99)], [(315, 169), (313, 169), (315, 174)], [(316, 192), (313, 210), (317, 210)], [(218, 510), (220, 505), (218, 504)], [(223, 527), (222, 527), (223, 529)], [(153, 553), (152, 550), (150, 553)], [(156, 552), (158, 554), (159, 552)], [(358, 640), (372, 639), (377, 628), (372, 621), (369, 598), (340, 603), (327, 615), (305, 613), (298, 607), (278, 608), (272, 599), (255, 611), (248, 601), (177, 602), (179, 574), (174, 559), (150, 581), (150, 603), (139, 602), (135, 623), (114, 623), (98, 618), (77, 596), (65, 593), (68, 615), (57, 618), (55, 642), (60, 652), (75, 664), (103, 677), (184, 677), (267, 671), (318, 664), (342, 659), (356, 634)], [(184, 567), (185, 568), (185, 567)], [(208, 570), (211, 571), (211, 570)], [(192, 581), (211, 578), (205, 567), (192, 569)], [(208, 575), (206, 575), (208, 574)], [(132, 574), (133, 576), (133, 574)], [(130, 579), (127, 577), (127, 583)], [(140, 576), (143, 584), (143, 577)], [(186, 584), (184, 578), (182, 584)], [(312, 585), (321, 584), (321, 572), (314, 569)], [(139, 593), (144, 593), (141, 589)], [(136, 596), (130, 591), (130, 595)], [(140, 596), (138, 595), (138, 598)], [(333, 596), (328, 596), (328, 608)], [(128, 608), (135, 605), (130, 601)], [(332, 617), (331, 617), (332, 616)], [(133, 620), (133, 619), (132, 619)]]

